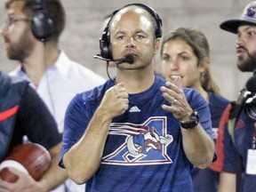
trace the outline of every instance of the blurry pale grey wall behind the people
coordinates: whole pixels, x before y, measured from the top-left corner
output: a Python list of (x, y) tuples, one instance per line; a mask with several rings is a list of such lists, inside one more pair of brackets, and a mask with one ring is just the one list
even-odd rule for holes
[[(4, 0), (0, 1), (0, 23), (4, 23)], [(236, 69), (236, 35), (219, 28), (224, 20), (239, 18), (249, 0), (62, 0), (67, 13), (67, 25), (60, 45), (72, 60), (91, 68), (107, 78), (106, 63), (93, 59), (100, 52), (99, 38), (103, 18), (125, 4), (142, 3), (152, 6), (163, 20), (163, 32), (178, 27), (201, 29), (211, 47), (212, 76), (223, 96), (235, 100), (251, 73)], [(0, 70), (10, 72), (17, 62), (8, 60), (0, 38)], [(155, 60), (160, 68), (159, 55)], [(110, 70), (114, 76), (114, 71)]]

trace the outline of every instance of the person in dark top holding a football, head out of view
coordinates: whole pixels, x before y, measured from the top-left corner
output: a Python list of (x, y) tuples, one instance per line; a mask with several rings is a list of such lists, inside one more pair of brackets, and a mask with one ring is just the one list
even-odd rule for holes
[(48, 149), (52, 156), (52, 165), (42, 180), (36, 181), (29, 174), (13, 169), (19, 179), (14, 183), (0, 179), (0, 191), (44, 192), (56, 188), (68, 174), (57, 164), (61, 136), (52, 114), (28, 82), (0, 72), (0, 90), (0, 162), (12, 148), (22, 144), (25, 135)]

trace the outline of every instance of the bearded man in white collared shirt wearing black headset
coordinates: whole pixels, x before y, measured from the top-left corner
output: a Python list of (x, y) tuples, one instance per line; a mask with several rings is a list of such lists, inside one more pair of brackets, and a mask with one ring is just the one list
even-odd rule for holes
[[(44, 100), (63, 132), (68, 102), (77, 92), (103, 84), (105, 79), (70, 60), (60, 50), (59, 38), (65, 27), (65, 10), (60, 0), (8, 0), (7, 20), (2, 31), (7, 56), (19, 60), (12, 76), (20, 76)], [(67, 180), (54, 192), (84, 191), (84, 186)]]

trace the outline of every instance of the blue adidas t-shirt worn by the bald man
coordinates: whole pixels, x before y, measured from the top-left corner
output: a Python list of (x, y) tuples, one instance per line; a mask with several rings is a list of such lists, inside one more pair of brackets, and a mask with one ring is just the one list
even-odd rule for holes
[[(113, 85), (108, 81), (71, 100), (60, 166), (63, 154), (82, 137), (104, 93)], [(86, 182), (86, 191), (193, 191), (192, 164), (182, 147), (179, 121), (162, 108), (163, 104), (170, 105), (160, 91), (163, 85), (164, 79), (156, 76), (147, 91), (129, 95), (129, 108), (110, 124), (100, 168)], [(183, 91), (212, 137), (208, 104), (195, 90)]]

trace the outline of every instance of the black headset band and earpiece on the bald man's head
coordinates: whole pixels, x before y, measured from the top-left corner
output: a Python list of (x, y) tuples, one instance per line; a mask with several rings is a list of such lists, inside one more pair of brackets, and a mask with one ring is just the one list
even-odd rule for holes
[[(150, 13), (150, 15), (154, 18), (154, 20), (156, 20), (155, 35), (157, 38), (160, 38), (162, 36), (163, 23), (161, 18), (157, 14), (157, 12), (146, 4), (126, 4), (124, 7), (131, 6), (131, 5), (140, 6), (141, 8), (146, 10), (148, 13)], [(115, 16), (116, 12), (119, 12), (120, 10), (124, 9), (124, 7), (113, 12), (111, 19), (108, 21), (107, 27), (104, 29), (102, 33), (102, 36), (100, 38), (100, 57), (103, 59), (113, 60), (111, 44), (110, 44), (109, 24), (113, 19), (113, 17)]]

